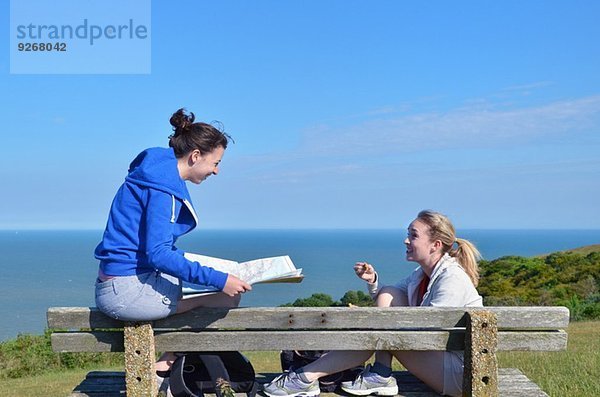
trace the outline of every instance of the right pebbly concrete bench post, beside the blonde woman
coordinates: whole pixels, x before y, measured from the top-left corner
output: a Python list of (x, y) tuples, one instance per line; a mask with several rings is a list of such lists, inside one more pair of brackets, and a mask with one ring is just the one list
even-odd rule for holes
[(498, 324), (486, 310), (467, 313), (463, 396), (498, 396)]

